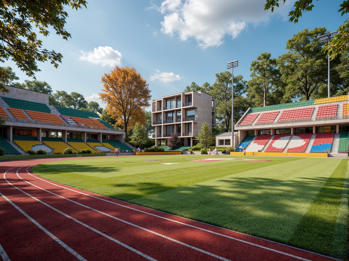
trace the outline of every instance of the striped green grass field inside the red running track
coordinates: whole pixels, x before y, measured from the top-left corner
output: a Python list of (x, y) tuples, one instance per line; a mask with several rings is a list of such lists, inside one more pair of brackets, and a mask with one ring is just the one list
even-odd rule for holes
[[(214, 157), (237, 160), (192, 161)], [(241, 158), (79, 158), (37, 165), (32, 171), (62, 184), (345, 259), (346, 159)]]

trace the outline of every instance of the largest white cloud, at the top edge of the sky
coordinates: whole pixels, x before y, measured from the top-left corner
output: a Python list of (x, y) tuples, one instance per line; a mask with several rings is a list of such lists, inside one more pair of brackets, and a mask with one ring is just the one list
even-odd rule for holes
[(181, 40), (194, 38), (202, 49), (223, 44), (226, 35), (232, 38), (248, 27), (269, 21), (270, 16), (287, 15), (288, 1), (279, 8), (264, 10), (263, 0), (164, 0), (153, 7), (164, 14), (161, 31), (178, 34)]

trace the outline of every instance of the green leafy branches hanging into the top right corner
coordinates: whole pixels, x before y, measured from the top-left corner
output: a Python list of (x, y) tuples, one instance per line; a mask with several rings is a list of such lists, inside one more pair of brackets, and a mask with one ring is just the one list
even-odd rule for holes
[[(272, 9), (272, 12), (274, 11), (274, 7), (279, 7), (279, 1), (282, 1), (283, 3), (286, 2), (286, 0), (266, 0), (265, 4), (265, 10)], [(290, 16), (289, 21), (294, 21), (295, 23), (298, 22), (298, 18), (302, 17), (303, 12), (311, 11), (314, 7), (312, 4), (313, 0), (298, 0), (295, 2), (294, 10), (292, 10), (288, 15)], [(338, 12), (341, 12), (341, 15), (349, 13), (349, 0), (343, 0), (343, 3), (340, 5), (340, 9)], [(339, 33), (333, 38), (333, 40), (328, 44), (326, 43), (324, 45), (324, 52), (326, 54), (330, 55), (330, 58), (333, 60), (337, 57), (337, 55), (340, 55), (341, 53), (347, 53), (348, 55), (348, 43), (349, 43), (349, 21), (344, 21), (343, 24), (341, 24), (337, 31)], [(348, 57), (347, 57), (348, 59)]]

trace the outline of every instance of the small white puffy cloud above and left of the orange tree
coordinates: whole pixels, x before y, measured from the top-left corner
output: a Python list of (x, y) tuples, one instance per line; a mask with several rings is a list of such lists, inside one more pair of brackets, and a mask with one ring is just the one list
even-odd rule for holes
[(114, 50), (110, 46), (99, 46), (93, 52), (85, 53), (81, 51), (80, 60), (92, 62), (92, 64), (100, 64), (101, 66), (120, 66), (122, 55), (119, 51)]

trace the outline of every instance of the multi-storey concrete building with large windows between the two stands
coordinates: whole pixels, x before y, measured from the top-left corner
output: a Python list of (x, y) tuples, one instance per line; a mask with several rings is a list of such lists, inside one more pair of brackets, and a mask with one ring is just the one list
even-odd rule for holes
[(152, 119), (156, 146), (167, 146), (167, 139), (177, 133), (183, 146), (194, 146), (204, 122), (216, 126), (216, 99), (203, 91), (181, 92), (153, 100)]

